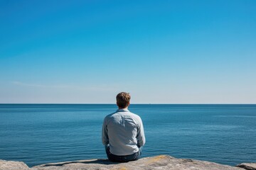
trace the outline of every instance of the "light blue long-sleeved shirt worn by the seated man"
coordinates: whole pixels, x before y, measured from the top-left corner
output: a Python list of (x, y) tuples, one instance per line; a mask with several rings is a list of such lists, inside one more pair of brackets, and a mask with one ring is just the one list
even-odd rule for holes
[(144, 128), (139, 115), (119, 109), (107, 115), (102, 125), (102, 143), (110, 145), (110, 152), (124, 156), (139, 151), (145, 145)]

